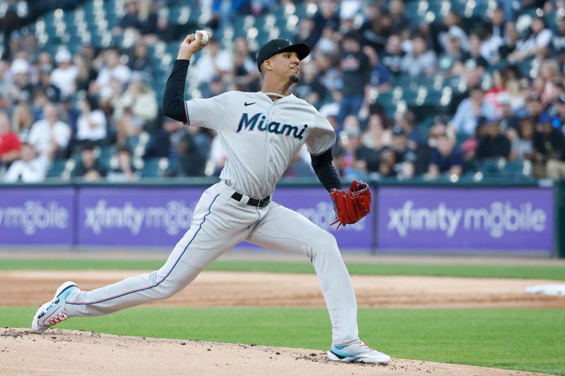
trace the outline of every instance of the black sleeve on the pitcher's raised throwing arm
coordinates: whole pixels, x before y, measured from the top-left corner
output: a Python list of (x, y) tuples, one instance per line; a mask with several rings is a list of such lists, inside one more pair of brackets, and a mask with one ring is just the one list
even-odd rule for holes
[(171, 75), (165, 85), (163, 95), (163, 114), (174, 120), (188, 123), (184, 107), (184, 82), (186, 71), (189, 68), (189, 60), (175, 60)]

